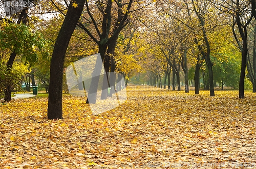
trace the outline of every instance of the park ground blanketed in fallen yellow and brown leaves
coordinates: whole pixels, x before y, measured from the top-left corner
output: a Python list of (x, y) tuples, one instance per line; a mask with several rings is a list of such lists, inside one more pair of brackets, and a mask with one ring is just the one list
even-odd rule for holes
[(242, 168), (256, 166), (256, 94), (128, 87), (121, 106), (91, 115), (63, 97), (63, 120), (47, 98), (0, 105), (0, 168)]

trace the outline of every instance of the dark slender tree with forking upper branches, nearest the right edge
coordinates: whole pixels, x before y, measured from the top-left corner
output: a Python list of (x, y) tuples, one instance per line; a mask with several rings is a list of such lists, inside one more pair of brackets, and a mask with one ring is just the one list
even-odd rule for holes
[[(244, 98), (244, 80), (246, 73), (246, 63), (247, 63), (247, 26), (251, 22), (252, 18), (255, 17), (255, 1), (212, 1), (216, 8), (218, 8), (223, 13), (227, 13), (232, 18), (232, 32), (234, 38), (238, 43), (238, 47), (241, 50), (242, 62), (239, 80), (239, 98)], [(231, 19), (229, 19), (230, 21)], [(238, 29), (238, 31), (237, 31)], [(239, 37), (238, 33), (239, 32)], [(240, 39), (242, 40), (242, 44)]]

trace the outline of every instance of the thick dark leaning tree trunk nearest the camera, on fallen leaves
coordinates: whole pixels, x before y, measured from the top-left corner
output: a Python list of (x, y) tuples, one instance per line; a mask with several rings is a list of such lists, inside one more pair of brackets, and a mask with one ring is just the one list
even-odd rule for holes
[[(75, 8), (73, 3), (78, 4)], [(61, 25), (56, 39), (50, 69), (48, 118), (62, 119), (62, 80), (66, 51), (70, 38), (81, 16), (85, 0), (73, 0), (70, 2), (68, 12)]]

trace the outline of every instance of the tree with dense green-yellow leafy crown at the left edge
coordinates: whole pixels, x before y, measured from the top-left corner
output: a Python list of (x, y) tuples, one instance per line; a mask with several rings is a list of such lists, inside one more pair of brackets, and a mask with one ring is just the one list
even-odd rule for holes
[[(25, 24), (9, 23), (0, 31), (0, 45), (2, 49), (11, 51), (7, 63), (7, 71), (12, 69), (16, 55), (22, 56), (22, 60), (33, 64), (38, 60), (38, 51), (47, 57), (46, 40), (38, 32), (33, 33)], [(37, 51), (38, 50), (38, 51)], [(5, 89), (5, 101), (11, 100), (11, 86)]]

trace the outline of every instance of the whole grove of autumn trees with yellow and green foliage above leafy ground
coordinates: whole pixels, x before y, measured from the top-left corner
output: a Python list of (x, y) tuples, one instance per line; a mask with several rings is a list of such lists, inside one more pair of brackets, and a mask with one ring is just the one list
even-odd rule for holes
[[(65, 68), (100, 53), (100, 99), (115, 93), (114, 72), (166, 90), (215, 96), (215, 87), (256, 92), (256, 2), (252, 0), (26, 1), (0, 17), (0, 96), (11, 100), (26, 76), (49, 92), (48, 118), (62, 119)], [(101, 62), (100, 61), (100, 62)], [(94, 73), (97, 71), (95, 67)], [(111, 73), (110, 73), (111, 72)], [(88, 95), (96, 102), (99, 76)], [(28, 82), (30, 84), (30, 81)], [(190, 88), (190, 89), (189, 89)], [(89, 103), (89, 101), (87, 101)]]

